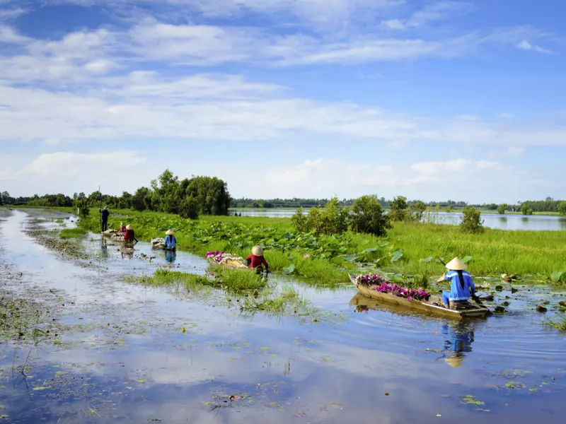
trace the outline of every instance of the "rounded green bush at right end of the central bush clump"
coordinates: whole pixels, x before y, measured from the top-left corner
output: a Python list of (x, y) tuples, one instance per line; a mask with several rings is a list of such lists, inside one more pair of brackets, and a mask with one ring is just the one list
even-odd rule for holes
[(354, 200), (350, 210), (350, 228), (354, 232), (365, 232), (378, 237), (386, 235), (391, 223), (377, 196), (362, 196)]

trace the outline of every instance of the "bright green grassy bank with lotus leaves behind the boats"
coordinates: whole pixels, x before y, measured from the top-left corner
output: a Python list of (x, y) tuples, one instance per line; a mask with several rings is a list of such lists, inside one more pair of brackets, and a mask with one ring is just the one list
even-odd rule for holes
[[(164, 237), (176, 230), (179, 249), (204, 255), (224, 250), (247, 256), (255, 245), (265, 247), (265, 257), (275, 271), (286, 270), (320, 283), (347, 281), (347, 273), (359, 264), (383, 271), (435, 276), (444, 271), (432, 260), (470, 256), (475, 275), (501, 273), (545, 279), (566, 270), (566, 235), (560, 231), (504, 231), (486, 229), (481, 235), (465, 235), (454, 225), (396, 223), (388, 237), (347, 232), (316, 237), (296, 234), (287, 218), (204, 216), (184, 220), (156, 212), (112, 211), (109, 224), (132, 223), (138, 240)], [(81, 228), (98, 231), (98, 210), (83, 220)]]

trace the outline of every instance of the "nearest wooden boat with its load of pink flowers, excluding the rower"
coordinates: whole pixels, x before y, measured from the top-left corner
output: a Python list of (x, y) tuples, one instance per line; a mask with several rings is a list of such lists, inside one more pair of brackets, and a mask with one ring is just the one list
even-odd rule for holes
[(452, 319), (485, 317), (488, 310), (480, 305), (466, 303), (464, 309), (446, 309), (439, 301), (434, 301), (431, 294), (422, 288), (402, 288), (391, 283), (379, 274), (357, 276), (350, 274), (359, 293), (393, 306), (408, 307), (415, 312)]

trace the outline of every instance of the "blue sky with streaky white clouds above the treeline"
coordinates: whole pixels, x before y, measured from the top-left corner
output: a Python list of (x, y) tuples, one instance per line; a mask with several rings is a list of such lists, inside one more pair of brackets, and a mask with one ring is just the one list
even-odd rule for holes
[(0, 0), (0, 191), (566, 199), (562, 0)]

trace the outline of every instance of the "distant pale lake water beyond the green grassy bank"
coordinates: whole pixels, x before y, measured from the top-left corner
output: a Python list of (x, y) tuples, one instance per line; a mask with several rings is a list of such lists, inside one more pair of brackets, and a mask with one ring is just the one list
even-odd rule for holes
[[(241, 213), (242, 216), (265, 216), (269, 218), (291, 218), (296, 213), (294, 209), (231, 209), (231, 213)], [(305, 211), (304, 213), (308, 213)], [(456, 225), (460, 223), (461, 213), (438, 214), (438, 223)], [(566, 230), (566, 218), (560, 216), (521, 216), (521, 215), (497, 215), (495, 213), (483, 213), (484, 225), (489, 228), (500, 230), (533, 230), (533, 231), (564, 231)]]

